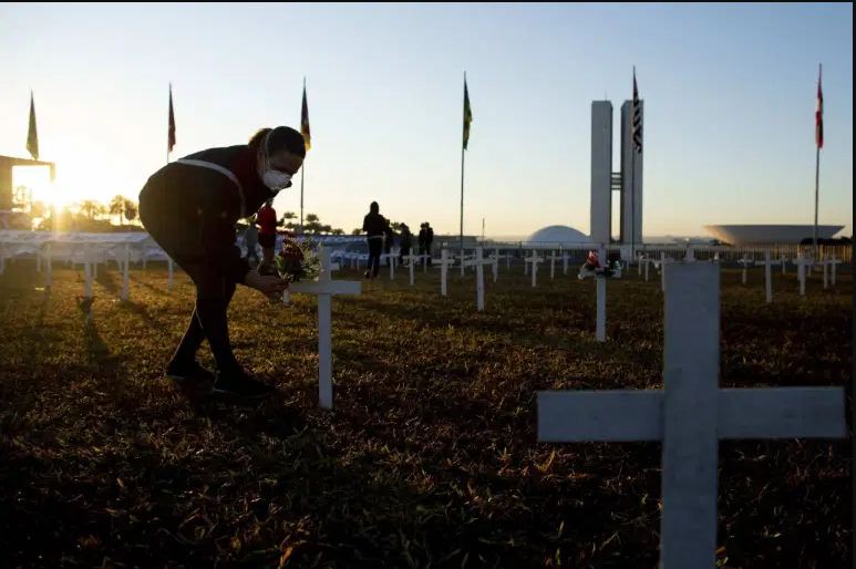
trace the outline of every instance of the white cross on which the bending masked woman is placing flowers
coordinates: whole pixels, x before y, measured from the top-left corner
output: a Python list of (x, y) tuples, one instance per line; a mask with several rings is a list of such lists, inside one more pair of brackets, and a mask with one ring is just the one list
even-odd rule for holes
[(338, 267), (330, 263), (323, 247), (319, 247), (321, 273), (318, 280), (289, 284), (291, 292), (318, 297), (318, 402), (321, 408), (333, 408), (333, 354), (332, 354), (332, 298), (334, 294), (359, 294), (361, 283), (357, 280), (332, 280), (330, 272)]

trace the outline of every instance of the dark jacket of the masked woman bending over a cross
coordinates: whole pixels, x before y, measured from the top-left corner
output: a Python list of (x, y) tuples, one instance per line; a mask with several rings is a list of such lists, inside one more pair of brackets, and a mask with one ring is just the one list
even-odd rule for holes
[(140, 218), (176, 261), (216, 263), (234, 282), (244, 282), (249, 265), (235, 244), (235, 224), (241, 213), (254, 214), (274, 196), (256, 170), (256, 149), (243, 144), (185, 158), (226, 168), (240, 182), (240, 190), (221, 172), (173, 162), (153, 174), (140, 193)]

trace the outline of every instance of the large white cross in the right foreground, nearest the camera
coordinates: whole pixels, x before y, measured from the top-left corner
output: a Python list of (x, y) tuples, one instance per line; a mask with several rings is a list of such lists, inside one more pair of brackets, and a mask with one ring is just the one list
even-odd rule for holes
[(720, 390), (719, 267), (667, 272), (664, 390), (539, 392), (538, 441), (662, 441), (660, 567), (713, 568), (719, 439), (843, 437), (844, 390)]

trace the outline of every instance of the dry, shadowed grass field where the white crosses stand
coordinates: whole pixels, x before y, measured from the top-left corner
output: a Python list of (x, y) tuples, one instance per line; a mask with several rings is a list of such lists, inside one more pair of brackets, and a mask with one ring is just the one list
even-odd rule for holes
[[(93, 321), (59, 268), (0, 277), (0, 566), (654, 568), (660, 444), (536, 442), (536, 392), (661, 386), (659, 278), (532, 289), (404, 271), (333, 300), (334, 404), (317, 406), (316, 302), (239, 288), (238, 360), (276, 384), (247, 406), (162, 376), (193, 302), (183, 273), (100, 269)], [(557, 271), (560, 272), (560, 271)], [(574, 271), (576, 272), (576, 271)], [(722, 386), (844, 385), (852, 280), (800, 298), (794, 270), (722, 276)], [(489, 275), (489, 271), (487, 271)], [(341, 271), (337, 278), (359, 278)], [(204, 346), (205, 348), (205, 346)], [(203, 362), (210, 364), (207, 350)], [(849, 566), (849, 442), (723, 442), (718, 559)]]

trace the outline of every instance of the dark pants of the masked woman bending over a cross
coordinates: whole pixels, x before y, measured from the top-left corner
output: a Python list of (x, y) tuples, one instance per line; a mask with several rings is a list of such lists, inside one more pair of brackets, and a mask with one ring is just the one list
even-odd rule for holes
[(173, 363), (189, 364), (207, 339), (221, 372), (239, 369), (229, 342), (226, 310), (237, 282), (221, 262), (223, 250), (213, 247), (212, 231), (223, 231), (219, 220), (192, 193), (181, 194), (168, 184), (151, 180), (140, 194), (140, 219), (157, 245), (196, 284), (196, 304)]

